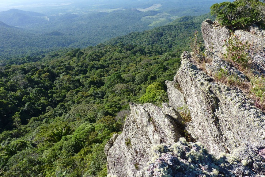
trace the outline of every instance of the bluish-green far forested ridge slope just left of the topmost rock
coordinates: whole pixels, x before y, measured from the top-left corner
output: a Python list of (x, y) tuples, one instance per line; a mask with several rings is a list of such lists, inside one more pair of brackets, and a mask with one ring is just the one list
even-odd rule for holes
[(149, 50), (151, 50), (150, 46), (153, 46), (155, 48), (153, 52), (158, 54), (162, 54), (165, 51), (187, 50), (190, 46), (189, 37), (193, 37), (195, 31), (199, 31), (198, 38), (202, 41), (200, 28), (202, 21), (206, 18), (213, 19), (210, 13), (198, 17), (180, 17), (168, 25), (144, 32), (129, 33), (122, 37), (113, 38), (104, 44), (115, 45), (122, 43), (124, 45), (138, 45), (142, 48), (148, 46)]

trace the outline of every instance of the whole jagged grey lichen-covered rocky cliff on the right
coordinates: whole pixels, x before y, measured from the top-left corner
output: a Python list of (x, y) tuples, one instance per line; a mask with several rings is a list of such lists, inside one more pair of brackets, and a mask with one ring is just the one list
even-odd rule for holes
[[(206, 57), (202, 70), (194, 55), (184, 52), (173, 81), (167, 81), (169, 105), (130, 103), (123, 132), (105, 147), (108, 174), (140, 176), (265, 175), (265, 115), (237, 87), (218, 82), (220, 70), (248, 83), (248, 77), (220, 56), (230, 33), (209, 19), (202, 24)], [(252, 71), (264, 74), (265, 32), (251, 27), (236, 31), (251, 43)], [(256, 70), (254, 70), (256, 69)], [(183, 116), (183, 108), (191, 121)], [(188, 143), (187, 140), (194, 142)]]

